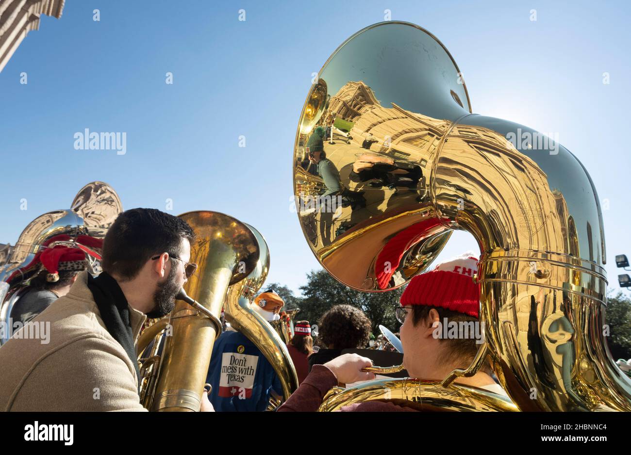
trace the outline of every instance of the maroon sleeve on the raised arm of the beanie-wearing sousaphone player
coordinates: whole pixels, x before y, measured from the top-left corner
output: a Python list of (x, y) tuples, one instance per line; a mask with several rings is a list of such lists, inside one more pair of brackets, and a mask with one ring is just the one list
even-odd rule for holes
[(338, 385), (338, 379), (324, 365), (314, 365), (300, 387), (277, 412), (315, 412), (326, 393)]

